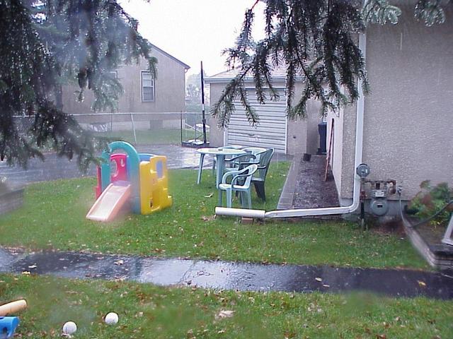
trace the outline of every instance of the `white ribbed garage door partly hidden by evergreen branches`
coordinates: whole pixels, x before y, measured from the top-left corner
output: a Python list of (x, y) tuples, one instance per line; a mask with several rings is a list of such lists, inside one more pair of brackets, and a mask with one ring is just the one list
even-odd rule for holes
[(276, 152), (286, 153), (286, 100), (283, 90), (279, 93), (279, 101), (268, 100), (265, 105), (260, 105), (254, 90), (248, 90), (248, 101), (260, 117), (258, 126), (251, 126), (248, 123), (241, 102), (235, 102), (236, 110), (231, 114), (226, 131), (226, 144), (275, 148)]

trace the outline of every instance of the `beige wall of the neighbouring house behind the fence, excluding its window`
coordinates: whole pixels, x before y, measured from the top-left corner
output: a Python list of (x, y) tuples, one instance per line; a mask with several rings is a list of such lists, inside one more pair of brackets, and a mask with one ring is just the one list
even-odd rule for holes
[[(141, 71), (147, 71), (147, 62), (140, 59), (139, 64), (120, 66), (117, 76), (125, 94), (118, 101), (117, 112), (183, 112), (185, 111), (185, 69), (183, 64), (171, 59), (157, 49), (151, 55), (158, 59), (154, 102), (142, 102)], [(86, 91), (84, 102), (75, 100), (76, 86), (64, 86), (64, 110), (70, 114), (93, 113), (91, 104), (93, 94)]]

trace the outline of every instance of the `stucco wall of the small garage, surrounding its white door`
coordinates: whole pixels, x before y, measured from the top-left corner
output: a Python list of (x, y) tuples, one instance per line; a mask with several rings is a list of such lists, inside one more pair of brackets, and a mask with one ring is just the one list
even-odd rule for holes
[[(214, 105), (222, 94), (226, 83), (210, 84), (210, 102)], [(252, 83), (250, 85), (253, 85)], [(275, 88), (285, 88), (285, 83), (275, 82)], [(302, 93), (302, 83), (298, 83), (294, 89), (294, 97)], [(320, 121), (319, 103), (310, 101), (307, 107), (306, 119), (289, 120), (287, 124), (287, 153), (290, 155), (299, 153), (314, 154), (319, 147), (318, 124)], [(217, 119), (207, 118), (210, 125), (210, 143), (212, 146), (224, 145), (224, 131), (217, 128)]]

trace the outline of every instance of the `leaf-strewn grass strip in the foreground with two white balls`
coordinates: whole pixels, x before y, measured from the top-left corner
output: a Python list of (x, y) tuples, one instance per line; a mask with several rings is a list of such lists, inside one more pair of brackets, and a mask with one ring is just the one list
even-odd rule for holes
[[(451, 338), (452, 301), (367, 294), (234, 292), (0, 275), (0, 299), (25, 297), (21, 338)], [(110, 311), (116, 326), (103, 323)], [(232, 311), (231, 317), (219, 316)]]

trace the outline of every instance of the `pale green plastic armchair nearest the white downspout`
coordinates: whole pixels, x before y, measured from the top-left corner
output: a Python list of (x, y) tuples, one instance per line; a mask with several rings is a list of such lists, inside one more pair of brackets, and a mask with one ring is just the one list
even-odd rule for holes
[[(222, 177), (222, 183), (219, 184), (219, 206), (222, 206), (223, 191), (226, 191), (226, 207), (231, 208), (233, 202), (233, 192), (241, 193), (241, 205), (243, 208), (252, 208), (251, 198), (251, 179), (253, 173), (258, 169), (258, 165), (248, 165), (244, 169), (237, 171), (226, 172)], [(231, 179), (231, 183), (227, 183), (227, 179)], [(243, 180), (243, 182), (241, 182)], [(241, 182), (241, 184), (239, 184)]]

